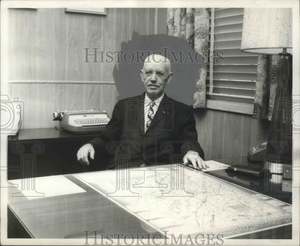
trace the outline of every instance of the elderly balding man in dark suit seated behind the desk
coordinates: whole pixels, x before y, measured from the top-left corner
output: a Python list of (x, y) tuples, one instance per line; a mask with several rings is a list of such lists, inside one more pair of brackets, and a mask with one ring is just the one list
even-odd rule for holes
[[(158, 54), (150, 55), (140, 75), (146, 92), (116, 103), (104, 131), (77, 152), (78, 161), (89, 165), (88, 156), (92, 160), (95, 153), (107, 156), (111, 153), (110, 144), (116, 143), (119, 156), (128, 155), (129, 145), (135, 144), (130, 166), (170, 164), (170, 157), (182, 155), (184, 165), (209, 167), (197, 142), (193, 108), (164, 93), (173, 76), (170, 61)], [(108, 168), (115, 165), (113, 161)]]

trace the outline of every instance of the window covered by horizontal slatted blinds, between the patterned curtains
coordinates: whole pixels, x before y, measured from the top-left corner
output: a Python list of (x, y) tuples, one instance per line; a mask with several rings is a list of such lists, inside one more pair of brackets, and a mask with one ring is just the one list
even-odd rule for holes
[(244, 8), (211, 8), (207, 108), (253, 114), (257, 54), (241, 52), (243, 17)]

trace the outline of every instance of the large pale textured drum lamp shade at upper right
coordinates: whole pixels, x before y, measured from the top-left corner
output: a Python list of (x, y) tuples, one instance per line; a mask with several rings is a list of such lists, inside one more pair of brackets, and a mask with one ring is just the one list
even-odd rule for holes
[(241, 51), (292, 54), (292, 8), (244, 8)]

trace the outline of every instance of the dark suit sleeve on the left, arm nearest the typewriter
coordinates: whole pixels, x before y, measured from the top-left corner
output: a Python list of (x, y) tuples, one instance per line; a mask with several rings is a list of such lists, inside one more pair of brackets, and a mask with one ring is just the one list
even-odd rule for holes
[(101, 155), (107, 155), (107, 143), (110, 141), (118, 141), (122, 132), (122, 115), (121, 103), (118, 101), (113, 109), (113, 114), (110, 121), (107, 123), (103, 132), (95, 137), (90, 143), (93, 145), (95, 152)]

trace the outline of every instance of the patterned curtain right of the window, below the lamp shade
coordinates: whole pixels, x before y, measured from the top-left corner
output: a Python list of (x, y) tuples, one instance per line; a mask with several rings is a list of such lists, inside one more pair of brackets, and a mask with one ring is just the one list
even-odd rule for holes
[[(254, 98), (254, 119), (271, 121), (275, 94), (279, 79), (279, 55), (258, 55), (256, 89)], [(292, 59), (289, 59), (288, 80), (292, 81)]]

